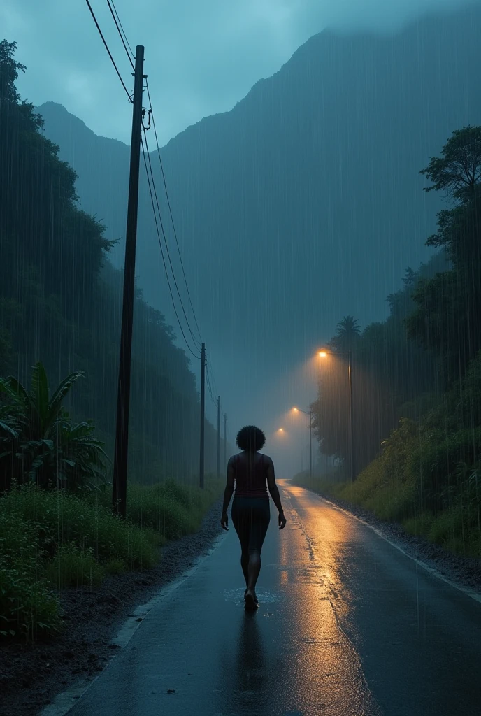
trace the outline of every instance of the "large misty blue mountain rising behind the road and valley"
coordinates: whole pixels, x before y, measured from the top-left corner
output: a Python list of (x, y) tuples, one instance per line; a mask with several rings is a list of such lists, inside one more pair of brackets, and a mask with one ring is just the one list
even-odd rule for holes
[[(361, 326), (383, 319), (404, 269), (430, 255), (442, 203), (419, 170), (453, 130), (481, 123), (480, 32), (479, 5), (389, 36), (321, 32), (233, 110), (162, 148), (193, 303), (239, 417), (271, 422), (312, 400), (293, 365), (344, 314)], [(39, 112), (79, 175), (82, 208), (122, 239), (128, 147), (59, 105)], [(139, 284), (173, 321), (143, 174), (139, 211)]]

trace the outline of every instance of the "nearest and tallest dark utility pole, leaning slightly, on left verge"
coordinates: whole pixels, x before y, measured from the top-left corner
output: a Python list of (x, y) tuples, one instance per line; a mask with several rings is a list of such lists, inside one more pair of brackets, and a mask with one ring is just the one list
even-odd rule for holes
[(132, 358), (132, 318), (134, 311), (135, 245), (137, 243), (137, 205), (139, 201), (140, 136), (142, 130), (142, 84), (144, 47), (135, 49), (132, 140), (130, 142), (129, 199), (125, 231), (124, 296), (120, 332), (119, 384), (117, 392), (117, 425), (112, 480), (112, 506), (125, 519), (127, 507), (127, 455), (129, 440), (130, 364)]

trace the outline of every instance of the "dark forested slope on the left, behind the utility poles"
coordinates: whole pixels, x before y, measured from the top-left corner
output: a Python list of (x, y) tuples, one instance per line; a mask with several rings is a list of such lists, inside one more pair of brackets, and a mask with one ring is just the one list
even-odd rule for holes
[[(21, 102), (24, 67), (0, 43), (0, 376), (25, 383), (42, 361), (51, 381), (85, 375), (67, 397), (79, 422), (92, 418), (112, 456), (122, 274), (107, 261), (112, 241), (80, 211), (76, 175), (42, 135), (42, 117)], [(188, 479), (198, 470), (200, 407), (188, 358), (172, 329), (142, 300), (134, 307), (130, 474)], [(206, 425), (206, 467), (215, 432)]]

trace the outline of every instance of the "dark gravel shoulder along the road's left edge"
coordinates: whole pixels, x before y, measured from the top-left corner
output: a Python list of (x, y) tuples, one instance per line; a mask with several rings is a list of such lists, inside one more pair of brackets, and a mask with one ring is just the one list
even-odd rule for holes
[(198, 532), (160, 549), (154, 569), (105, 579), (92, 590), (62, 591), (62, 634), (34, 644), (0, 644), (0, 716), (37, 714), (60, 691), (94, 679), (115, 652), (112, 639), (136, 606), (145, 604), (203, 556), (222, 531), (222, 499)]

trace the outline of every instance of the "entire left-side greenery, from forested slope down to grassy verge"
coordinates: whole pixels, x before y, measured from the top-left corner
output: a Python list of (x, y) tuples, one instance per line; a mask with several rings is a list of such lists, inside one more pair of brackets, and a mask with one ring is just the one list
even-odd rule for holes
[[(79, 208), (74, 171), (21, 101), (26, 68), (15, 51), (0, 42), (0, 638), (32, 639), (61, 627), (60, 590), (150, 569), (162, 544), (197, 530), (221, 485), (192, 483), (195, 377), (164, 316), (137, 291), (127, 520), (112, 513), (115, 242)], [(67, 377), (52, 389), (47, 375)], [(205, 437), (212, 470), (208, 421)]]

